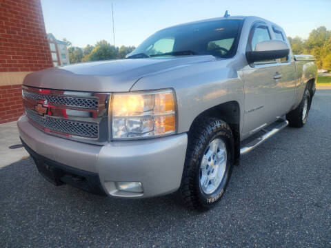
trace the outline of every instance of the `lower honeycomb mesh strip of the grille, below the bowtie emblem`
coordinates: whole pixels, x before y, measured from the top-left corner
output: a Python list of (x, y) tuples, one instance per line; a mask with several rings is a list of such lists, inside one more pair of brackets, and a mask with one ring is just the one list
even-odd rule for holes
[(54, 132), (87, 138), (97, 138), (99, 135), (99, 127), (97, 123), (80, 123), (54, 117), (39, 116), (39, 114), (29, 109), (26, 109), (26, 115), (41, 127), (45, 127)]

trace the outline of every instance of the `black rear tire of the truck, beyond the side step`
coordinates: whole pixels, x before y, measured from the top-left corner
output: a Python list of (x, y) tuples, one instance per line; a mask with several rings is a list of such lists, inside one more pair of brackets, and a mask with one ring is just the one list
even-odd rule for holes
[[(305, 106), (305, 99), (308, 101), (308, 107), (307, 112), (305, 113), (305, 116), (303, 116), (303, 108)], [(310, 110), (310, 92), (309, 90), (305, 90), (305, 93), (303, 94), (303, 98), (299, 106), (286, 114), (286, 119), (288, 120), (288, 125), (290, 127), (303, 127), (308, 119), (308, 113)]]

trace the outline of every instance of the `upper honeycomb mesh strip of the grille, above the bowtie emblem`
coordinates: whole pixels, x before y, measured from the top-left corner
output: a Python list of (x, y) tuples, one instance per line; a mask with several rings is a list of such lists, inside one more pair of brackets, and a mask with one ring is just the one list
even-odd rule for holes
[(52, 95), (52, 94), (39, 94), (23, 90), (23, 96), (34, 100), (48, 101), (48, 103), (66, 105), (68, 107), (86, 108), (91, 110), (98, 109), (97, 98), (83, 98), (79, 96), (66, 96), (66, 95)]

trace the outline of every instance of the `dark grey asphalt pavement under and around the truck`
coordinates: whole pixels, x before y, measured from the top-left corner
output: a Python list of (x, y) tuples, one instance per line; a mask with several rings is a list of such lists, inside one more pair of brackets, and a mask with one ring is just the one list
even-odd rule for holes
[(0, 247), (331, 247), (331, 90), (308, 123), (241, 158), (221, 203), (121, 200), (54, 187), (30, 158), (0, 169)]

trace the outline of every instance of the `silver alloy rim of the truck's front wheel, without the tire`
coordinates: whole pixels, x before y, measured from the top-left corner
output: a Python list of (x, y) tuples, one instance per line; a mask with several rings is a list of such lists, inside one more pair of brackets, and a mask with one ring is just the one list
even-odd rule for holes
[(220, 185), (228, 161), (226, 146), (215, 138), (205, 149), (200, 164), (200, 187), (205, 194), (212, 194)]

